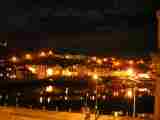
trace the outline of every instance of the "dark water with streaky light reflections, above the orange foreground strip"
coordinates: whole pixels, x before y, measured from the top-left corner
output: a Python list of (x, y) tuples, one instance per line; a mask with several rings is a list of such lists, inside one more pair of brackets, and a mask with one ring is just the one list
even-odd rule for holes
[[(71, 88), (56, 88), (53, 86), (52, 92), (47, 92), (46, 86), (48, 85), (42, 86), (41, 88), (31, 88), (30, 91), (26, 89), (23, 91), (1, 92), (0, 105), (68, 112), (80, 112), (81, 108), (87, 105), (91, 111), (94, 111), (96, 99), (94, 91), (93, 93), (87, 92), (87, 94), (80, 90), (77, 92), (78, 90)], [(153, 112), (154, 98), (152, 96), (137, 96), (136, 101), (137, 112)], [(98, 95), (98, 109), (101, 114), (108, 114), (112, 111), (132, 113), (132, 106), (130, 104), (132, 103), (129, 103), (122, 97), (110, 96), (105, 93)], [(144, 106), (146, 106), (145, 109)]]

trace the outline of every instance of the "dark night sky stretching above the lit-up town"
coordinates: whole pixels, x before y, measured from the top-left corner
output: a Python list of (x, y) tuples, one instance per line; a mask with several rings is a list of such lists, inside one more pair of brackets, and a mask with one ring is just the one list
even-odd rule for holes
[[(3, 10), (5, 14), (1, 11), (4, 21), (1, 28), (10, 32), (1, 33), (0, 37), (7, 39), (12, 48), (138, 52), (155, 47), (151, 42), (153, 36), (147, 38), (143, 1), (105, 2), (6, 0), (0, 4), (0, 7), (8, 6)], [(150, 27), (151, 24), (152, 21)]]

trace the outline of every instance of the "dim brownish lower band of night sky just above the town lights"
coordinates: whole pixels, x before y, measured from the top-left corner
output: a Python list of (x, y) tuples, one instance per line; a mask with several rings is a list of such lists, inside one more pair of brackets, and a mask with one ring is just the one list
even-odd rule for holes
[(138, 52), (146, 51), (148, 47), (142, 30), (129, 32), (27, 32), (8, 33), (6, 36), (8, 36), (10, 48), (83, 48), (91, 52)]

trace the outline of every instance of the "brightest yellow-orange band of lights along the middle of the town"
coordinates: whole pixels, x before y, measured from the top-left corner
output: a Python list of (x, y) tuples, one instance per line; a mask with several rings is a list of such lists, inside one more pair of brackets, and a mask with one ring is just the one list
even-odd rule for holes
[[(33, 74), (40, 74), (38, 68), (34, 68), (32, 66), (27, 67), (29, 71)], [(81, 68), (79, 68), (81, 69)], [(81, 72), (84, 72), (84, 75), (91, 77), (93, 80), (100, 80), (103, 75), (103, 71), (101, 72), (90, 72), (87, 68), (83, 71), (75, 69), (74, 71), (68, 68), (56, 68), (56, 67), (49, 67), (46, 69), (46, 77), (54, 77), (54, 76), (65, 76), (65, 77), (80, 77), (82, 75)], [(107, 74), (104, 74), (104, 77), (113, 76), (118, 78), (126, 78), (126, 79), (151, 79), (151, 73), (138, 73), (136, 70), (132, 68), (128, 68), (127, 70), (119, 70), (119, 71), (110, 71)]]

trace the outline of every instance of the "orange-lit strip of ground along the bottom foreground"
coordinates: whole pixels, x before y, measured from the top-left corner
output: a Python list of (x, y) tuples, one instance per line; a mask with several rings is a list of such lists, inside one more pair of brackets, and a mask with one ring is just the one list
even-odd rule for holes
[[(26, 108), (0, 107), (2, 120), (84, 120), (82, 113), (32, 110)], [(92, 114), (90, 120), (94, 120)], [(98, 120), (143, 120), (140, 118), (101, 115)]]

